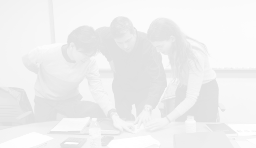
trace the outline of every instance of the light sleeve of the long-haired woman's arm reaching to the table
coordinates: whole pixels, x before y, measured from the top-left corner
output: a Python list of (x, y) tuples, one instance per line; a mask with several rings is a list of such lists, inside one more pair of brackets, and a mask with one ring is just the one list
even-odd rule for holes
[(175, 108), (180, 115), (183, 115), (195, 105), (203, 84), (205, 55), (201, 53), (197, 54), (197, 59), (198, 63), (192, 60), (189, 62), (190, 67), (186, 98)]

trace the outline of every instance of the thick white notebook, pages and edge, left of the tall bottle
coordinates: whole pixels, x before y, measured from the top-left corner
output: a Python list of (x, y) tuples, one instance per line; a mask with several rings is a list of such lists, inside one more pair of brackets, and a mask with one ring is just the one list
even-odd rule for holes
[(89, 123), (90, 117), (63, 118), (50, 130), (49, 134), (84, 134)]

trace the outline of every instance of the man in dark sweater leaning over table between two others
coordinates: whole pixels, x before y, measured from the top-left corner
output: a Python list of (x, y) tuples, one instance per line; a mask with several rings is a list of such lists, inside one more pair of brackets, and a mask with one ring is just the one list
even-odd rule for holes
[(123, 16), (115, 18), (110, 27), (96, 30), (101, 38), (101, 53), (114, 72), (112, 89), (116, 110), (111, 115), (135, 120), (131, 113), (135, 104), (137, 119), (134, 124), (146, 124), (166, 88), (162, 56)]

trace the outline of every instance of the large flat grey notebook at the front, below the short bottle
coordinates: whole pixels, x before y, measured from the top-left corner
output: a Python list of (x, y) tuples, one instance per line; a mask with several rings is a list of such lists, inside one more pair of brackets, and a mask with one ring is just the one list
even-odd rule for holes
[(174, 148), (234, 148), (224, 132), (174, 134)]

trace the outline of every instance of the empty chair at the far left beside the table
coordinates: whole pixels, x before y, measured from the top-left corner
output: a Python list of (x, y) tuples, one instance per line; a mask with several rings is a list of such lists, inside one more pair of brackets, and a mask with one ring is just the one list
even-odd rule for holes
[(0, 129), (34, 121), (26, 92), (19, 88), (0, 87)]

